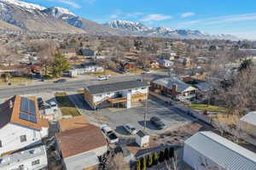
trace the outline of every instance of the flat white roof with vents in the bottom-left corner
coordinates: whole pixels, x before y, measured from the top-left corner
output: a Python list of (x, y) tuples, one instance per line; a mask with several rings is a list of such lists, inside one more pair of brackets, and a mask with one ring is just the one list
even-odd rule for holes
[(39, 146), (37, 148), (33, 148), (31, 150), (24, 150), (9, 156), (0, 157), (0, 169), (6, 169), (6, 167), (12, 166), (13, 164), (16, 163), (22, 164), (22, 162), (25, 162), (38, 156), (46, 157), (46, 150), (44, 145)]

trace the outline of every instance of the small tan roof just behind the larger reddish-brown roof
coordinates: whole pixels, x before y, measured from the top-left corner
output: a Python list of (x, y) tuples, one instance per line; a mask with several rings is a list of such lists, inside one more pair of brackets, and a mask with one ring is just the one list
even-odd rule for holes
[(71, 118), (61, 119), (58, 122), (60, 132), (88, 125), (90, 125), (90, 122), (85, 116), (74, 116)]

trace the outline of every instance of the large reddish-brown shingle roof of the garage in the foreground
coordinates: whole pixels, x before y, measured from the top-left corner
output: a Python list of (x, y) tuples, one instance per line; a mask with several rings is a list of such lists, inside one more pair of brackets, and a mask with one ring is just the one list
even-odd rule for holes
[(107, 145), (101, 129), (94, 125), (56, 133), (55, 136), (63, 158), (76, 156)]

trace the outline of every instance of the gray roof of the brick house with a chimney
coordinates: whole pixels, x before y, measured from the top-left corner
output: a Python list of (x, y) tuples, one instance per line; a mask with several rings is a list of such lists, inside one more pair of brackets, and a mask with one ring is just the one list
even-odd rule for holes
[(190, 87), (189, 84), (182, 82), (177, 77), (160, 78), (153, 81), (156, 84), (172, 89), (173, 84), (177, 84), (177, 92), (182, 93), (184, 90)]

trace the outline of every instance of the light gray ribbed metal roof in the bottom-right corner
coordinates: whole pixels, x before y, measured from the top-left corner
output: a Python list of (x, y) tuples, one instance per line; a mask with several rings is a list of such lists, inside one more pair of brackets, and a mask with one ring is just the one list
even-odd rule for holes
[(185, 141), (219, 166), (232, 170), (256, 170), (256, 154), (216, 133), (199, 132)]

